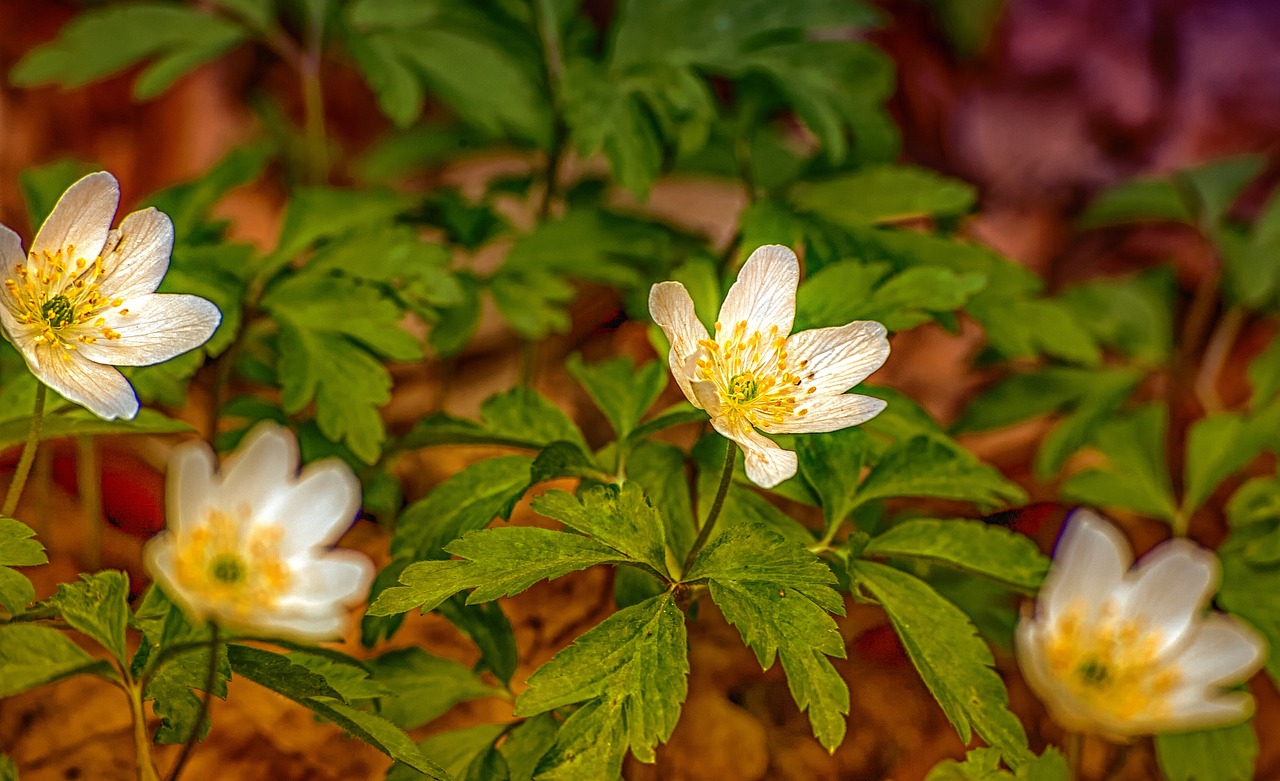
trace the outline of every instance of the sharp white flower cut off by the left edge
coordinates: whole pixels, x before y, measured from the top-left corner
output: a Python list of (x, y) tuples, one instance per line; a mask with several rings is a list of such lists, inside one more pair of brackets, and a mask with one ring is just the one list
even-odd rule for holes
[(23, 254), (0, 225), (0, 324), (42, 383), (111, 420), (138, 414), (113, 366), (147, 366), (200, 347), (221, 319), (198, 296), (156, 294), (173, 223), (134, 211), (111, 230), (120, 187), (99, 172), (70, 186)]

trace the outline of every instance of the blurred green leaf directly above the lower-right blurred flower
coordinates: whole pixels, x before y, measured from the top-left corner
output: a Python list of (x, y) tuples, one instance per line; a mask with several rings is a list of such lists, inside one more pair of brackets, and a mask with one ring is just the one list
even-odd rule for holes
[(1103, 424), (1094, 438), (1106, 467), (1076, 472), (1062, 497), (1094, 507), (1124, 507), (1172, 522), (1178, 516), (1165, 463), (1165, 405), (1151, 403)]

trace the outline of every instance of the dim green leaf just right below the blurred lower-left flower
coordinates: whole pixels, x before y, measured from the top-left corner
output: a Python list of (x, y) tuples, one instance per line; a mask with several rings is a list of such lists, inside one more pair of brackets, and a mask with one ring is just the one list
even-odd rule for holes
[(394, 693), (381, 699), (379, 713), (403, 730), (420, 727), (457, 703), (502, 695), (466, 664), (420, 648), (392, 650), (367, 664), (374, 680)]

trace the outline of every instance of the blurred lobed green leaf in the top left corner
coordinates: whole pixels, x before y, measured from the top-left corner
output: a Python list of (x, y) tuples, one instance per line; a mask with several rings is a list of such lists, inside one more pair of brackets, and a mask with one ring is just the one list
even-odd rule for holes
[[(221, 17), (169, 3), (132, 3), (86, 10), (51, 42), (27, 52), (9, 73), (22, 87), (78, 87), (142, 60), (159, 58), (134, 82), (134, 96), (154, 97), (179, 76), (247, 38)], [(111, 41), (111, 46), (102, 46)]]

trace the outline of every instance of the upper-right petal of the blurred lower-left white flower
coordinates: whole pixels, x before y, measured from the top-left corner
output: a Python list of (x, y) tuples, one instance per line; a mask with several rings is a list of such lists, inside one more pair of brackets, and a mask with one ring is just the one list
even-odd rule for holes
[(296, 484), (282, 483), (256, 520), (280, 527), (280, 554), (292, 557), (337, 543), (358, 511), (360, 480), (342, 461), (326, 458), (307, 465)]

